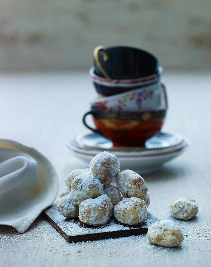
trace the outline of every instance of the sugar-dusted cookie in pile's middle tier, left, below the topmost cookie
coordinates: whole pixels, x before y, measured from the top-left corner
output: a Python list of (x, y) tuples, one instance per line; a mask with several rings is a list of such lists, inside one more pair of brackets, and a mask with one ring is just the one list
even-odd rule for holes
[(74, 204), (79, 205), (88, 198), (103, 195), (103, 186), (99, 179), (90, 174), (76, 176), (71, 185), (71, 198)]

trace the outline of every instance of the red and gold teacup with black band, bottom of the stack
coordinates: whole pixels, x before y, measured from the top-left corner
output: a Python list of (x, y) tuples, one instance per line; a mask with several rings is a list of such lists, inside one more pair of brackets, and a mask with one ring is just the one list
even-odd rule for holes
[[(87, 125), (85, 117), (88, 114), (93, 116), (96, 129)], [(165, 116), (166, 109), (143, 112), (91, 110), (84, 115), (83, 123), (110, 139), (115, 146), (142, 146), (161, 130)]]

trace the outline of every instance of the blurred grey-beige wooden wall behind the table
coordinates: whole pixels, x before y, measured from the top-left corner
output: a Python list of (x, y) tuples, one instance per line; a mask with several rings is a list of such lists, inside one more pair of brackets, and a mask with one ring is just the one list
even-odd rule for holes
[(210, 11), (210, 0), (0, 0), (0, 70), (88, 69), (98, 45), (146, 49), (165, 70), (207, 70)]

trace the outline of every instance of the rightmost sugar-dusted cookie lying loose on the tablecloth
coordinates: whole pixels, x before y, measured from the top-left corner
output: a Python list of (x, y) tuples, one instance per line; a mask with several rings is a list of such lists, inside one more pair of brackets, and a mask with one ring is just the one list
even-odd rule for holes
[(174, 218), (189, 220), (198, 213), (198, 204), (189, 196), (175, 197), (169, 205), (169, 213)]

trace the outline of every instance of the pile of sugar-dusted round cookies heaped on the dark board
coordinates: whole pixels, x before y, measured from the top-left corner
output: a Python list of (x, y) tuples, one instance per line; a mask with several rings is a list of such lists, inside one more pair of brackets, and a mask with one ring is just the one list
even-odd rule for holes
[[(120, 172), (118, 158), (106, 151), (97, 154), (89, 167), (73, 170), (65, 179), (68, 189), (54, 202), (64, 217), (79, 217), (93, 226), (106, 224), (112, 213), (128, 225), (146, 220), (150, 197), (140, 175)], [(110, 184), (115, 179), (117, 187)]]

